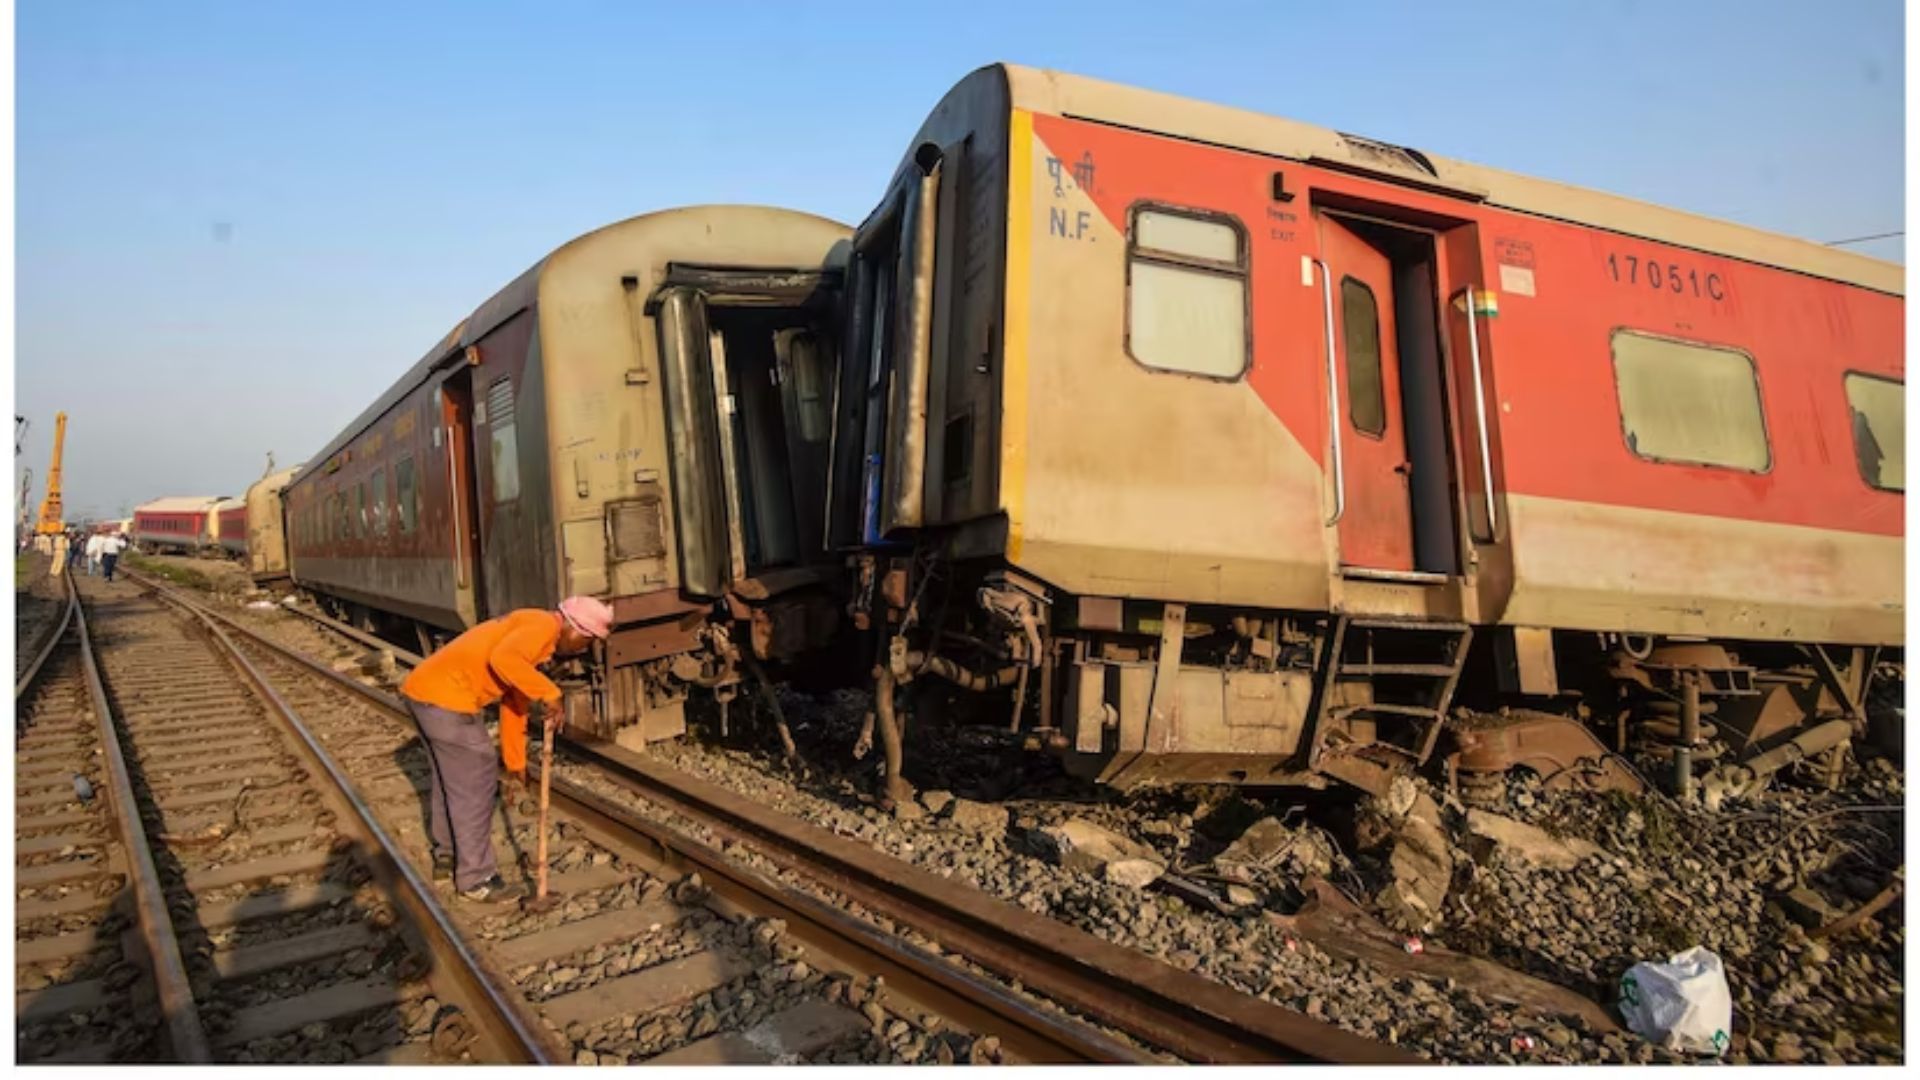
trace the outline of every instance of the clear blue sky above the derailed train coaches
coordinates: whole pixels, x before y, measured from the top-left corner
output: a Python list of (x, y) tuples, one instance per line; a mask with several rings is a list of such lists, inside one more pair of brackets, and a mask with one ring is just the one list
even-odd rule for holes
[(1895, 0), (19, 0), (21, 461), (38, 500), (65, 409), (69, 515), (240, 494), (570, 236), (695, 202), (858, 221), (991, 60), (1814, 240), (1897, 231), (1903, 38)]

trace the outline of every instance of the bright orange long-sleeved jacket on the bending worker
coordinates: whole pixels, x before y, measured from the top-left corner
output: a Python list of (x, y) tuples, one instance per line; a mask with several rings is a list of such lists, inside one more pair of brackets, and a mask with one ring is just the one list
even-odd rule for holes
[(476, 715), (499, 701), (499, 753), (513, 773), (526, 773), (530, 701), (561, 703), (561, 688), (540, 675), (561, 644), (561, 615), (540, 607), (488, 619), (420, 661), (399, 692), (422, 705)]

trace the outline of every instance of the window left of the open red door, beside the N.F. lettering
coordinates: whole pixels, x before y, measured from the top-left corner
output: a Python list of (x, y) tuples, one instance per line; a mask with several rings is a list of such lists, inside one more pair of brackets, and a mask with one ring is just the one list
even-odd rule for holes
[(1133, 213), (1127, 354), (1146, 367), (1246, 373), (1246, 238), (1236, 221), (1171, 208)]

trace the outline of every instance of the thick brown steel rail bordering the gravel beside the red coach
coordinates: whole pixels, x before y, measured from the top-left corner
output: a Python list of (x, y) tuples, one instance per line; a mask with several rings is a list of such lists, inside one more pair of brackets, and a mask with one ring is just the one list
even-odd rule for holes
[[(227, 621), (225, 615), (211, 611), (207, 615), (232, 625), (263, 648), (390, 711), (403, 713), (396, 698), (346, 678)], [(566, 738), (559, 749), (601, 767), (624, 788), (699, 822), (724, 840), (747, 846), (781, 869), (822, 882), (847, 899), (925, 934), (948, 951), (1185, 1061), (1379, 1065), (1423, 1061), (1402, 1047), (1313, 1020), (979, 890), (958, 886), (866, 844), (780, 815), (716, 784), (611, 744)], [(670, 838), (662, 844), (703, 867), (712, 867), (716, 874), (735, 872), (726, 869), (730, 859), (710, 846), (659, 822), (636, 819), (576, 784), (555, 780), (553, 794), (568, 799), (568, 809), (576, 813), (605, 815), (618, 828), (641, 830), (657, 840)]]

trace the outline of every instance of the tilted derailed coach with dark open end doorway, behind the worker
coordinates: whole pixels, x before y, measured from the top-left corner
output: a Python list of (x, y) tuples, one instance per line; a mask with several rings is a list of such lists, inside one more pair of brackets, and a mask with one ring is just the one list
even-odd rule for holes
[(693, 688), (828, 642), (820, 507), (849, 229), (707, 206), (588, 233), (476, 307), (286, 484), (294, 580), (422, 650), (603, 596), (568, 723), (680, 734)]

